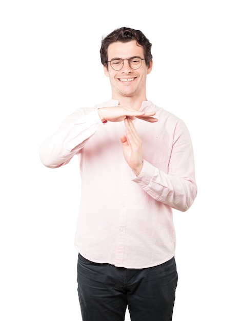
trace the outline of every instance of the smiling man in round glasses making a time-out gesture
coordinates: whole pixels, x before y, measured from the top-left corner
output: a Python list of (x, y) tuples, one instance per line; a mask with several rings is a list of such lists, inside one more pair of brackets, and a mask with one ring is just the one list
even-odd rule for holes
[[(82, 202), (75, 247), (83, 321), (172, 319), (177, 285), (172, 208), (196, 197), (185, 124), (146, 98), (151, 43), (119, 28), (100, 49), (112, 98), (71, 114), (41, 147), (50, 168), (77, 155)], [(155, 117), (153, 117), (155, 115)]]

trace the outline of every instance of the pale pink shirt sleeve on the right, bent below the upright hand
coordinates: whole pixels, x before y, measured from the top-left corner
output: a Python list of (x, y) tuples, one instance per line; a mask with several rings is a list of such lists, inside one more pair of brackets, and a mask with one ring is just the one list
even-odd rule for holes
[(142, 171), (133, 181), (158, 202), (183, 212), (191, 207), (197, 195), (194, 154), (183, 122), (175, 129), (168, 173), (144, 160)]

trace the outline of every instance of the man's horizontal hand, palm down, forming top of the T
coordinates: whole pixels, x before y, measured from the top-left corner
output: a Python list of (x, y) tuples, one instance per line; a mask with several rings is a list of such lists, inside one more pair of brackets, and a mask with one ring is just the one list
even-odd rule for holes
[(102, 122), (122, 122), (126, 117), (130, 117), (131, 119), (136, 117), (151, 123), (157, 122), (158, 120), (152, 117), (155, 115), (155, 112), (138, 111), (127, 106), (103, 107), (98, 108), (97, 111)]

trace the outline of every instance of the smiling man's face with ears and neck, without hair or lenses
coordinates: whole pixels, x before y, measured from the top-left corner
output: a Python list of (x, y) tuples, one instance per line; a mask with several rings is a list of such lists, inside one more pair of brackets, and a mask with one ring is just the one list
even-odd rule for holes
[[(113, 58), (145, 58), (143, 47), (138, 46), (136, 41), (128, 43), (115, 42), (108, 47), (108, 61)], [(104, 67), (106, 76), (110, 78), (112, 88), (112, 98), (119, 100), (122, 97), (138, 97), (146, 100), (146, 76), (151, 72), (152, 62), (150, 66), (146, 66), (145, 60), (138, 69), (132, 69), (128, 60), (124, 60), (122, 69), (113, 70), (110, 63)]]

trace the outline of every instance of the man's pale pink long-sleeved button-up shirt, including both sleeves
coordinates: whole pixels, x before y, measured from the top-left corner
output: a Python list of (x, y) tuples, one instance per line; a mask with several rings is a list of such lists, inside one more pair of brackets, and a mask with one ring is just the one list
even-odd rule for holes
[(183, 121), (144, 101), (140, 110), (155, 110), (158, 122), (134, 120), (144, 156), (136, 176), (120, 143), (124, 122), (103, 124), (97, 113), (116, 105), (110, 99), (76, 110), (43, 143), (40, 156), (50, 168), (78, 156), (82, 196), (75, 247), (80, 254), (117, 267), (152, 267), (175, 254), (172, 208), (186, 211), (196, 197), (192, 143)]

